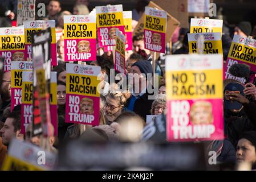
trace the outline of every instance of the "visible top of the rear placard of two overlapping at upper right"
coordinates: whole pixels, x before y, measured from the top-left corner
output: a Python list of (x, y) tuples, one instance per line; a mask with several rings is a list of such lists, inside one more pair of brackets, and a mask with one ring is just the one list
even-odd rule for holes
[(190, 22), (190, 33), (220, 32), (222, 35), (222, 25), (222, 19), (192, 18)]

